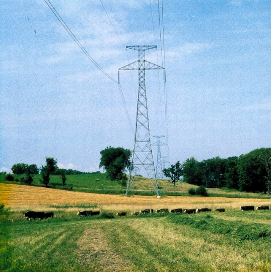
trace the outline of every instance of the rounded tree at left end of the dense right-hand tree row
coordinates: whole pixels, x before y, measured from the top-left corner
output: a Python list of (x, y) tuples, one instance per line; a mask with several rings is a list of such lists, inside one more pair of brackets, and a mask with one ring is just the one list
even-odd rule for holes
[(202, 164), (199, 163), (194, 157), (186, 159), (182, 164), (183, 181), (189, 184), (202, 185), (204, 172)]

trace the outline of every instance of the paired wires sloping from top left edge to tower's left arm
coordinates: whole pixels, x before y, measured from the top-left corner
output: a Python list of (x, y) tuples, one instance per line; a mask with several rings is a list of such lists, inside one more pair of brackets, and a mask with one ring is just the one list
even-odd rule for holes
[(94, 58), (89, 54), (89, 52), (85, 49), (85, 47), (80, 43), (80, 41), (77, 39), (77, 37), (74, 35), (74, 33), (71, 31), (71, 29), (66, 25), (66, 23), (63, 21), (61, 16), (57, 13), (53, 5), (49, 0), (44, 0), (44, 2), (47, 4), (49, 9), (52, 11), (54, 16), (57, 18), (57, 20), (61, 23), (61, 25), (64, 27), (64, 29), (69, 33), (69, 35), (73, 38), (73, 40), (76, 42), (76, 44), (80, 47), (80, 49), (86, 54), (86, 56), (92, 61), (92, 63), (110, 80), (112, 80), (115, 83), (118, 83), (116, 80), (114, 80), (112, 77), (110, 77), (102, 68), (101, 66), (94, 60)]

